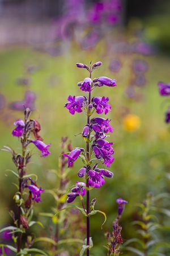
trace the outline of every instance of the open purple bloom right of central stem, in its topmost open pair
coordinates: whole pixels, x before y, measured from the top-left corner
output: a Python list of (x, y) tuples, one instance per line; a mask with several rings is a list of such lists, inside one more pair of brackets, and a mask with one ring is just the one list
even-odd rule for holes
[(109, 97), (94, 97), (92, 98), (92, 102), (94, 102), (94, 107), (96, 109), (97, 114), (107, 114), (111, 110), (111, 105), (107, 102), (109, 101)]

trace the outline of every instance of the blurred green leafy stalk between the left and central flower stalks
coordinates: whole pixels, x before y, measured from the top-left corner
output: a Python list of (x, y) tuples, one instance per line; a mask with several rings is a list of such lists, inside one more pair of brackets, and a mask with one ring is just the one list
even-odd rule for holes
[[(55, 200), (55, 205), (52, 207), (52, 212), (40, 213), (41, 216), (50, 217), (52, 225), (48, 227), (46, 237), (38, 237), (35, 242), (48, 243), (47, 250), (49, 255), (58, 256), (62, 253), (70, 252), (69, 246), (66, 248), (67, 243), (82, 243), (79, 239), (80, 233), (83, 228), (82, 218), (76, 210), (72, 209), (70, 212), (62, 211), (66, 207), (67, 191), (69, 185), (69, 169), (67, 168), (67, 159), (63, 155), (66, 151), (73, 150), (72, 145), (68, 142), (67, 137), (61, 139), (61, 156), (59, 157), (58, 169), (49, 170), (50, 173), (57, 176), (57, 184), (54, 189), (46, 189), (46, 193), (50, 193)], [(57, 215), (55, 215), (57, 212)], [(75, 217), (76, 219), (75, 220)], [(71, 225), (70, 229), (69, 226)], [(73, 228), (73, 230), (71, 229)], [(70, 231), (70, 232), (69, 232)], [(68, 238), (69, 237), (69, 238)], [(79, 246), (77, 246), (79, 248)], [(73, 253), (73, 252), (72, 252)]]

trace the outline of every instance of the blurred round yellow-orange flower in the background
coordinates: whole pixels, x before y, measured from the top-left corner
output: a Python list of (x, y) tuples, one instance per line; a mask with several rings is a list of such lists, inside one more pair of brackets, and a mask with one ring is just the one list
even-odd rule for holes
[(141, 126), (141, 119), (137, 115), (128, 114), (123, 119), (124, 128), (127, 131), (135, 131)]

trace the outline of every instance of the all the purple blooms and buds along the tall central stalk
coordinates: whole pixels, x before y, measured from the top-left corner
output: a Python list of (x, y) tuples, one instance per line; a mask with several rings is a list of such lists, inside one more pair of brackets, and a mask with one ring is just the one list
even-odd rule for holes
[[(98, 61), (91, 67), (88, 67), (82, 63), (78, 63), (76, 66), (78, 68), (86, 68), (90, 73), (92, 73), (94, 69), (99, 67), (101, 64), (101, 61)], [(112, 87), (116, 86), (116, 80), (105, 76), (97, 77), (92, 80), (90, 76), (86, 77), (84, 81), (78, 82), (80, 90), (88, 92), (89, 94), (91, 94), (92, 90), (94, 90), (96, 87), (101, 87), (104, 85)], [(92, 113), (95, 112), (95, 110), (97, 114), (108, 114), (108, 112), (111, 110), (111, 105), (108, 103), (109, 97), (93, 97), (89, 100), (89, 98), (84, 96), (69, 96), (67, 100), (69, 102), (65, 104), (65, 107), (71, 114), (75, 114), (75, 112), (85, 112), (87, 116), (90, 117)], [(110, 167), (114, 161), (112, 156), (114, 154), (114, 150), (112, 148), (113, 143), (108, 142), (105, 139), (108, 137), (106, 134), (113, 132), (113, 127), (110, 125), (110, 121), (111, 119), (105, 119), (102, 117), (95, 117), (91, 120), (89, 118), (88, 123), (84, 126), (82, 131), (83, 138), (90, 139), (92, 142), (88, 155), (91, 156), (94, 153), (96, 160), (99, 159), (100, 162), (105, 164), (107, 167)], [(91, 135), (92, 131), (94, 132), (94, 135)], [(64, 154), (64, 156), (68, 158), (68, 166), (71, 167), (73, 166), (75, 160), (78, 159), (82, 154), (82, 157), (84, 157), (86, 161), (86, 167), (83, 167), (79, 170), (78, 176), (83, 177), (86, 175), (87, 185), (90, 187), (99, 188), (105, 183), (104, 176), (113, 177), (113, 173), (111, 171), (105, 170), (104, 168), (97, 168), (98, 164), (96, 164), (94, 168), (91, 168), (88, 164), (88, 160), (90, 159), (87, 159), (86, 153), (87, 150), (82, 148), (74, 148), (74, 150), (72, 150), (69, 154)], [(71, 203), (78, 195), (78, 193), (80, 192), (73, 192), (72, 189), (72, 192), (67, 195), (67, 202)]]

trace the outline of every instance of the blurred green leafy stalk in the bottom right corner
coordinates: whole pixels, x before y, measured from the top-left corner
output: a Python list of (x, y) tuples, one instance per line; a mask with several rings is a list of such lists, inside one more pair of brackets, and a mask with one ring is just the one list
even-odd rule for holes
[[(166, 241), (165, 236), (161, 234), (165, 232), (165, 230), (169, 230), (169, 226), (162, 223), (162, 214), (168, 217), (170, 216), (170, 210), (163, 208), (162, 201), (165, 197), (169, 198), (170, 195), (163, 193), (154, 196), (152, 193), (148, 193), (146, 200), (143, 201), (142, 204), (138, 204), (139, 218), (133, 222), (133, 225), (138, 227), (137, 236), (126, 241), (124, 245), (122, 245), (122, 250), (131, 251), (139, 256), (169, 255), (167, 254), (170, 249), (169, 242)], [(162, 237), (164, 237), (164, 240)], [(134, 246), (129, 246), (130, 243), (133, 243)]]

